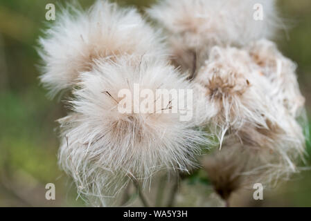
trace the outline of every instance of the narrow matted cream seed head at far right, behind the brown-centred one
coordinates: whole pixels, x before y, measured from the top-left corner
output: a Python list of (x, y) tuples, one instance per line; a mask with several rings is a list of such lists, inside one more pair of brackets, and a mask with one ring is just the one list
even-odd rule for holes
[(283, 104), (290, 115), (299, 117), (305, 103), (296, 77), (296, 64), (284, 57), (272, 41), (254, 41), (247, 50), (261, 72), (273, 85), (276, 102)]

